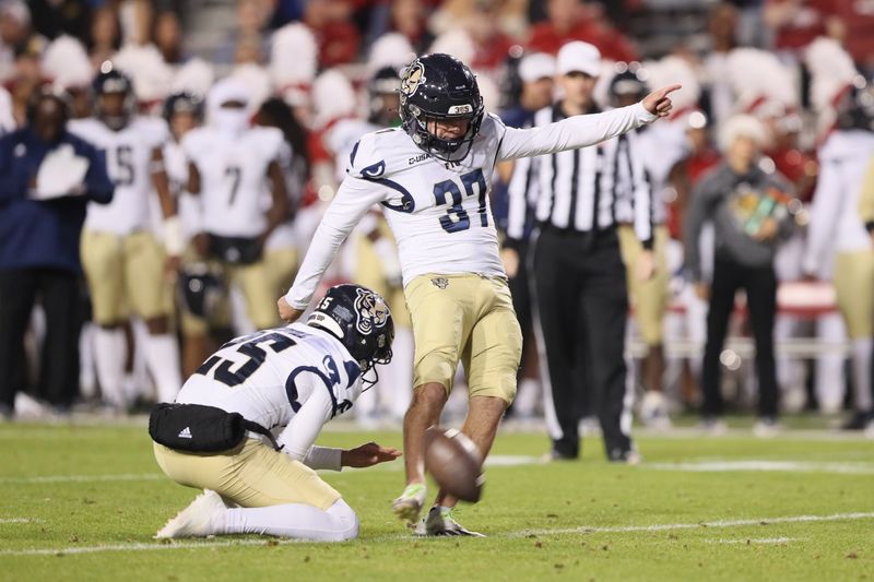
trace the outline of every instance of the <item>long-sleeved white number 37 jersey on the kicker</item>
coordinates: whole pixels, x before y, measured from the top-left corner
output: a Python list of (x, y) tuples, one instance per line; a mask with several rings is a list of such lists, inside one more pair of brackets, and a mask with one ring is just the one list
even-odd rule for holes
[(353, 149), (285, 299), (296, 309), (309, 304), (340, 245), (376, 203), (398, 242), (404, 285), (426, 273), (506, 276), (488, 202), (495, 164), (592, 145), (654, 119), (639, 103), (529, 129), (488, 114), (458, 163), (432, 157), (402, 129), (368, 133)]

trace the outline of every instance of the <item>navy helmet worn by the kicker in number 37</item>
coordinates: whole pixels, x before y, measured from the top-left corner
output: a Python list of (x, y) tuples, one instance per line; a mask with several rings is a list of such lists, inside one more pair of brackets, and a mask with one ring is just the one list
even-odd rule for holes
[[(401, 119), (404, 130), (428, 154), (459, 162), (470, 153), (483, 121), (483, 97), (473, 72), (460, 60), (440, 52), (414, 60), (401, 78)], [(444, 140), (428, 131), (430, 120), (468, 121), (458, 139)]]

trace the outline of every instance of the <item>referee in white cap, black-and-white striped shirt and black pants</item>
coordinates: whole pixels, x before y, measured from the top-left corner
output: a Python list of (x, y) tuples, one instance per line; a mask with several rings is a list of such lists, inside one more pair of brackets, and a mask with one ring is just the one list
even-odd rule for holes
[[(563, 46), (557, 72), (564, 98), (538, 111), (535, 126), (599, 110), (592, 90), (601, 55), (594, 46)], [(577, 424), (584, 407), (598, 415), (611, 461), (639, 460), (629, 435), (628, 295), (616, 233), (623, 219), (634, 222), (651, 265), (638, 273), (652, 276), (652, 200), (636, 138), (629, 132), (595, 146), (520, 159), (510, 180), (505, 247), (520, 245), (528, 203), (538, 223), (532, 274), (552, 459), (579, 456)]]

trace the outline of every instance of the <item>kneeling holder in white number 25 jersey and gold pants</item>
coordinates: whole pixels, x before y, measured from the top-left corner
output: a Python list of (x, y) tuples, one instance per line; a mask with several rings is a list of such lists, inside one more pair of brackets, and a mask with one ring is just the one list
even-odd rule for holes
[[(349, 411), (362, 390), (373, 384), (364, 376), (374, 365), (391, 360), (393, 337), (382, 297), (359, 285), (338, 285), (328, 290), (307, 324), (238, 337), (210, 357), (176, 397), (182, 403), (176, 413), (188, 415), (181, 418), (186, 428), (178, 437), (190, 442), (202, 438), (197, 428), (189, 428), (189, 419), (191, 427), (197, 426), (191, 412), (197, 406), (191, 405), (238, 413), (277, 436), (268, 437), (268, 444), (248, 432), (236, 447), (212, 453), (155, 442), (155, 459), (168, 477), (206, 489), (156, 537), (265, 534), (321, 542), (357, 537), (355, 512), (312, 470), (366, 467), (401, 453), (374, 442), (351, 450), (312, 443), (324, 423)], [(176, 436), (174, 431), (169, 438)]]

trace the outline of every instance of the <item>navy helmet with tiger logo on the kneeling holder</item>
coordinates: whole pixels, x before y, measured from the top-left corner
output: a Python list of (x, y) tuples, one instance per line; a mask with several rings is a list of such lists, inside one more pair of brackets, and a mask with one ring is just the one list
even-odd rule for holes
[(391, 361), (394, 321), (386, 300), (362, 285), (328, 289), (307, 320), (342, 342), (362, 371)]

